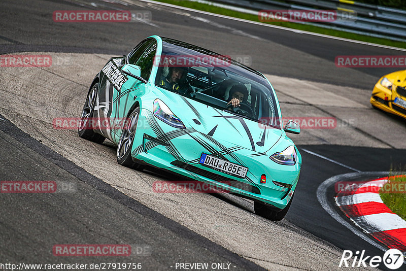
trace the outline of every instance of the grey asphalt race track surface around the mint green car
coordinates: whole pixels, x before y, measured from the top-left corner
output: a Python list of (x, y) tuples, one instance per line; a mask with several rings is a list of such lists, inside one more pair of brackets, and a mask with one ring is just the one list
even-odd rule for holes
[[(123, 8), (112, 3), (96, 4), (99, 6), (93, 9)], [(227, 195), (193, 194), (184, 198), (170, 195), (159, 198), (134, 192), (131, 188), (137, 190), (137, 187), (131, 187), (124, 176), (132, 175), (132, 178), (140, 178), (149, 184), (154, 180), (174, 180), (177, 177), (153, 171), (137, 173), (119, 167), (110, 144), (91, 144), (79, 139), (74, 131), (48, 131), (45, 125), (49, 123), (45, 119), (49, 121), (50, 116), (57, 117), (63, 113), (77, 116), (86, 88), (100, 63), (103, 65), (109, 55), (126, 54), (139, 41), (153, 34), (198, 44), (227, 55), (249, 55), (254, 69), (280, 76), (281, 81), (291, 78), (314, 84), (328, 83), (331, 87), (354, 88), (356, 91), (347, 94), (360, 104), (363, 98), (367, 104), (370, 89), (380, 76), (396, 69), (337, 68), (335, 56), (399, 55), (402, 52), (172, 8), (146, 6), (145, 3), (138, 5), (126, 9), (150, 10), (155, 26), (146, 23), (74, 24), (52, 21), (53, 11), (88, 9), (88, 3), (0, 3), (1, 54), (83, 53), (69, 55), (71, 64), (72, 59), (76, 64), (73, 71), (66, 67), (53, 67), (49, 73), (57, 79), (50, 79), (49, 75), (43, 74), (44, 71), (32, 69), (24, 70), (22, 74), (15, 69), (2, 70), (0, 74), (1, 81), (5, 83), (2, 84), (0, 103), (0, 179), (60, 179), (75, 183), (77, 188), (75, 193), (62, 195), (3, 194), (0, 262), (59, 262), (61, 259), (52, 255), (52, 245), (75, 243), (149, 246), (152, 248), (150, 256), (132, 255), (130, 260), (143, 262), (147, 270), (173, 269), (170, 266), (176, 262), (230, 262), (231, 266), (236, 266), (234, 269), (247, 270), (323, 270), (338, 267), (343, 249), (365, 249), (367, 255), (382, 255), (381, 250), (331, 218), (317, 201), (318, 186), (331, 176), (354, 172), (347, 167), (301, 151), (303, 167), (291, 210), (285, 220), (273, 223), (253, 214), (249, 202)], [(40, 83), (35, 82), (36, 79)], [(45, 82), (45, 79), (50, 81)], [(71, 91), (78, 86), (77, 93), (63, 94), (63, 91)], [(302, 85), (296, 87), (297, 91), (306, 90)], [(41, 101), (41, 98), (47, 99), (47, 95), (52, 95), (52, 91), (62, 93), (72, 101), (67, 101), (66, 97), (49, 97), (50, 101)], [(277, 88), (278, 91), (285, 112), (299, 114), (303, 112), (303, 107), (310, 111), (344, 114), (335, 107), (306, 104), (303, 100), (292, 101), (293, 98), (287, 96), (283, 89)], [(44, 92), (46, 95), (41, 96)], [(70, 109), (68, 106), (73, 103), (77, 103), (76, 108)], [(19, 106), (21, 110), (18, 110)], [(292, 108), (297, 111), (289, 111)], [(341, 141), (331, 134), (307, 131), (302, 133), (306, 140), (300, 139), (302, 134), (293, 140), (301, 150), (310, 150), (362, 172), (388, 171), (391, 165), (404, 165), (404, 121), (370, 109), (362, 112), (352, 110), (356, 113), (355, 119), (359, 119), (358, 125), (349, 130), (337, 130)], [(374, 118), (361, 118), (365, 112)], [(36, 118), (30, 119), (30, 115)], [(394, 126), (397, 128), (391, 130)], [(380, 131), (382, 127), (385, 129)], [(350, 133), (359, 133), (358, 140), (367, 143), (346, 142), (345, 139), (343, 143), (342, 138)], [(53, 138), (55, 134), (59, 138)], [(325, 142), (309, 145), (314, 141), (308, 138), (321, 138)], [(75, 156), (78, 150), (71, 151), (74, 145), (82, 150), (80, 157)], [(95, 157), (101, 160), (94, 161)], [(113, 180), (115, 174), (103, 170), (103, 167), (122, 173), (116, 173), (117, 180)], [(139, 189), (144, 191), (142, 187)], [(332, 198), (332, 195), (330, 189), (329, 197)], [(193, 200), (196, 204), (190, 203)], [(224, 211), (214, 214), (219, 208)], [(198, 212), (201, 215), (196, 215)], [(230, 217), (231, 213), (235, 216)], [(269, 254), (252, 251), (255, 247)], [(62, 261), (88, 263), (109, 260), (118, 261), (117, 258), (64, 258)]]

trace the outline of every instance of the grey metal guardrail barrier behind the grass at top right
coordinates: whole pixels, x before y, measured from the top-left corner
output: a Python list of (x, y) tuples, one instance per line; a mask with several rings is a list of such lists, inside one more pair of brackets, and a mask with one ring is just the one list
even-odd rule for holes
[[(192, 0), (197, 1), (197, 0)], [(260, 10), (336, 10), (337, 16), (354, 14), (355, 20), (335, 20), (324, 22), (299, 22), (324, 28), (360, 33), (372, 37), (406, 42), (406, 11), (382, 6), (357, 3), (350, 0), (208, 0), (200, 3), (213, 3), (242, 8), (255, 14)]]

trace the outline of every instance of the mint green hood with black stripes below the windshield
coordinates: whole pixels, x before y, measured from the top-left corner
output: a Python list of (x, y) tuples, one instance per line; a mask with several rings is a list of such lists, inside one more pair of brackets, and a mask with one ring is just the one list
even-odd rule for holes
[(181, 95), (169, 96), (170, 99), (164, 102), (186, 127), (208, 134), (220, 142), (226, 141), (255, 152), (266, 152), (282, 136), (280, 129), (261, 125)]

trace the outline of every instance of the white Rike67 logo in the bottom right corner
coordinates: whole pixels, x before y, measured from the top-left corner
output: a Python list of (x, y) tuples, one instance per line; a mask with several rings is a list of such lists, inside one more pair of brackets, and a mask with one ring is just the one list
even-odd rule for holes
[[(352, 257), (354, 259), (351, 262)], [(365, 256), (365, 250), (362, 250), (361, 254), (359, 251), (356, 251), (355, 254), (351, 250), (344, 250), (343, 256), (341, 257), (339, 267), (378, 267), (382, 263), (389, 269), (395, 270), (400, 268), (403, 264), (403, 254), (400, 250), (390, 249), (385, 252), (384, 256)]]

